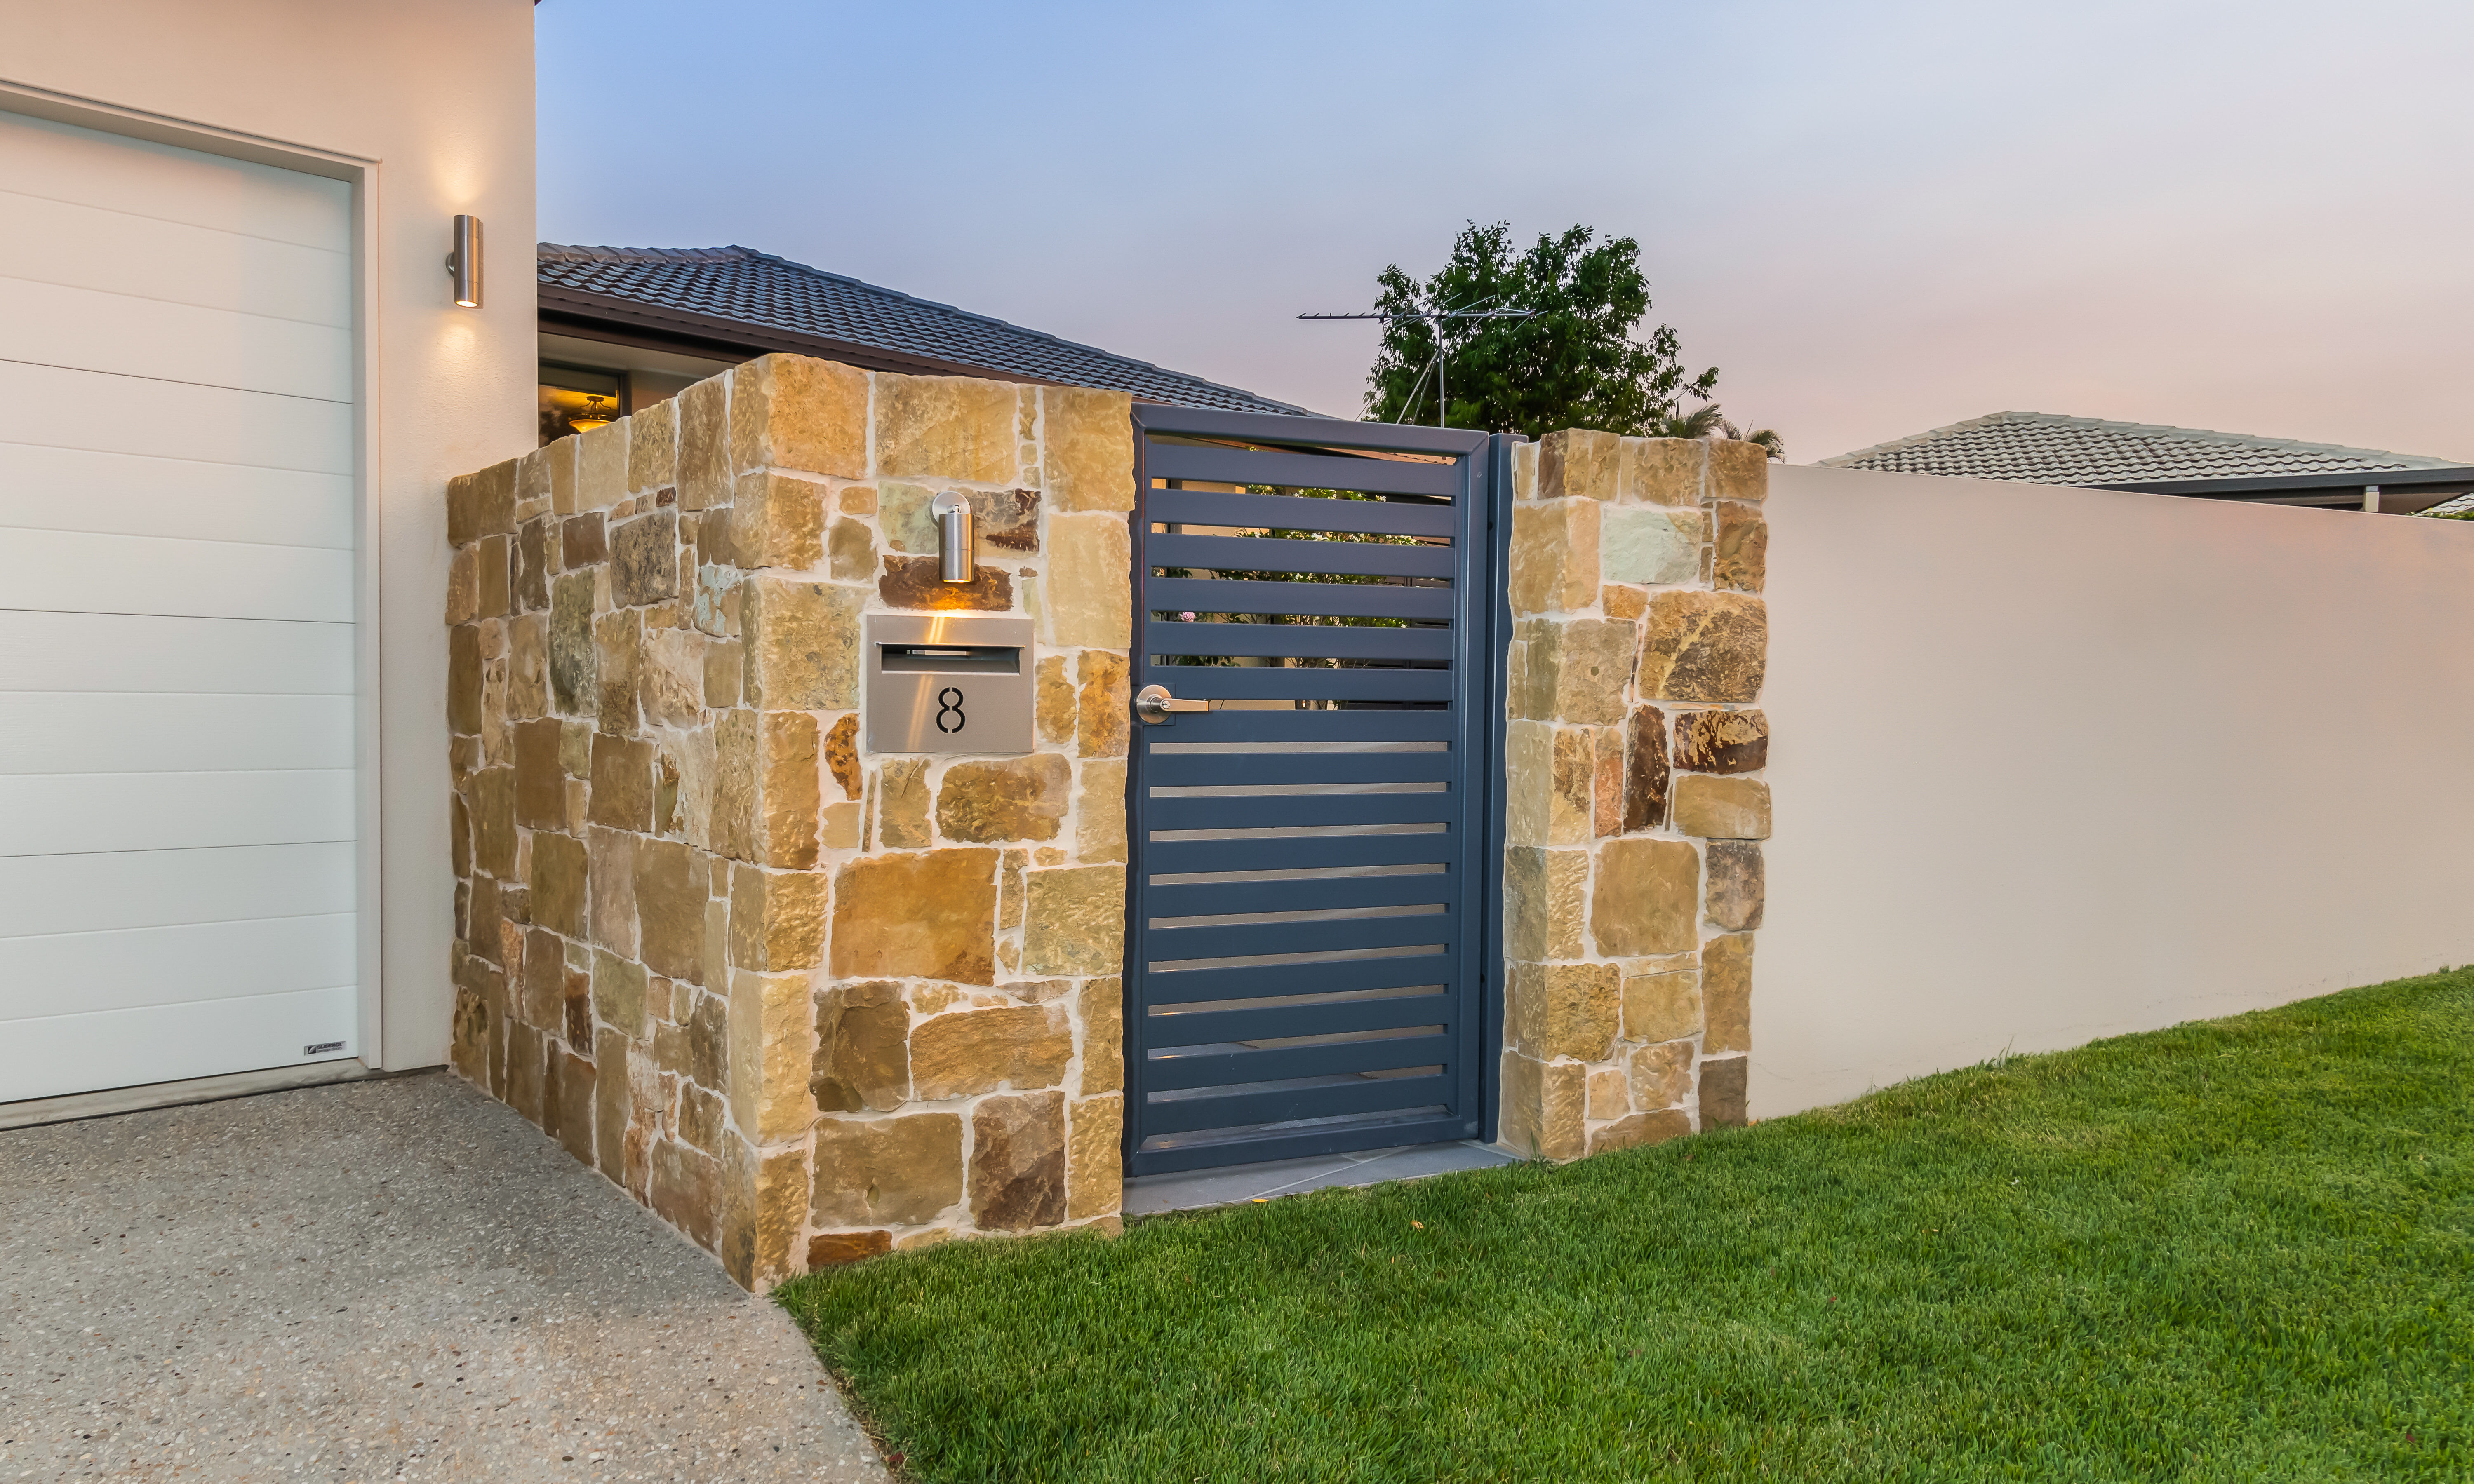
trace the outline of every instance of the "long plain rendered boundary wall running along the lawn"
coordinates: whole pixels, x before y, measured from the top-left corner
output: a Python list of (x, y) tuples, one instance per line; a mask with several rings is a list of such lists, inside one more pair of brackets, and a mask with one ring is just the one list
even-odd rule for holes
[(1769, 490), (1757, 1118), (2474, 960), (2474, 524)]

